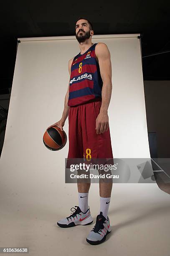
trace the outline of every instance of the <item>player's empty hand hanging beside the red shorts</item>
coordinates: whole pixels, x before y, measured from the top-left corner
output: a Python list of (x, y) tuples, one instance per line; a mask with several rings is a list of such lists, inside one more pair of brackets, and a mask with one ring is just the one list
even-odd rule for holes
[(100, 112), (96, 118), (96, 133), (101, 134), (109, 128), (109, 117), (107, 112)]

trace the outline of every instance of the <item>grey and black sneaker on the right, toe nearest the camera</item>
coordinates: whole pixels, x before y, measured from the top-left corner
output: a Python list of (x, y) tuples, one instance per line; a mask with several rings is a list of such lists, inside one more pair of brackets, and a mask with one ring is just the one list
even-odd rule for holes
[(96, 218), (96, 224), (94, 228), (90, 231), (89, 236), (87, 236), (86, 241), (90, 244), (96, 245), (102, 243), (106, 240), (107, 234), (112, 231), (110, 227), (110, 220), (107, 216), (107, 219), (100, 212)]

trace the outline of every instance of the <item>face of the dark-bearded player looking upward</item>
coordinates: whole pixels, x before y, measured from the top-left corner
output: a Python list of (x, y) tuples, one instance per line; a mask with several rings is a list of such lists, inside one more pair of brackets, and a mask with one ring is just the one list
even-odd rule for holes
[(76, 39), (79, 43), (90, 38), (90, 28), (87, 20), (78, 20), (76, 23)]

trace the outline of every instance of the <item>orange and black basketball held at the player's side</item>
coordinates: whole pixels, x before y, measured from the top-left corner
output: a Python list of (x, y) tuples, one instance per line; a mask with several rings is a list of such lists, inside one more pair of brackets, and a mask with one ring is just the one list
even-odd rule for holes
[(43, 143), (49, 150), (58, 151), (66, 145), (67, 136), (58, 126), (46, 130), (43, 135)]

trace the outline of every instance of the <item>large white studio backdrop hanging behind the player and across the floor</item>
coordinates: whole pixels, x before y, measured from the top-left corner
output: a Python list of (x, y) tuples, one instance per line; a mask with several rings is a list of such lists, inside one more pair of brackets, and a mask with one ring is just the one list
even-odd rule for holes
[[(106, 43), (111, 53), (113, 90), (108, 114), (114, 158), (150, 158), (139, 35), (92, 38), (93, 43)], [(91, 253), (85, 241), (91, 227), (79, 227), (79, 232), (73, 233), (53, 226), (69, 216), (78, 201), (76, 184), (65, 184), (69, 141), (56, 152), (43, 144), (46, 128), (61, 118), (69, 82), (68, 61), (79, 53), (79, 45), (75, 36), (18, 40), (0, 158), (0, 246), (28, 246), (31, 256), (55, 255), (56, 251), (84, 256)], [(63, 128), (68, 135), (68, 119)], [(89, 191), (93, 218), (99, 211), (98, 187), (91, 184)], [(108, 255), (113, 250), (117, 256), (126, 254), (127, 248), (130, 255), (136, 255), (141, 244), (148, 253), (158, 245), (150, 255), (167, 255), (168, 236), (162, 237), (160, 246), (157, 227), (169, 234), (169, 195), (157, 184), (114, 184), (113, 192), (109, 217), (116, 234), (110, 238)], [(145, 254), (142, 250), (139, 256)], [(93, 253), (106, 253), (105, 247), (95, 248)]]

